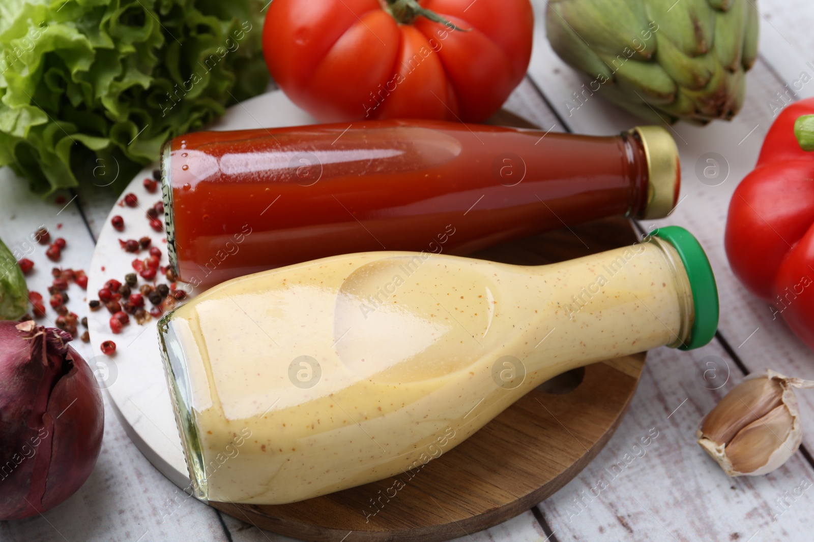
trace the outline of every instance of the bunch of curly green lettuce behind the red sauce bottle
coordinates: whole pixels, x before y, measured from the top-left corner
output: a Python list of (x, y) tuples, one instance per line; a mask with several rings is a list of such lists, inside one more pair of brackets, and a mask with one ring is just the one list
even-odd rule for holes
[(262, 93), (265, 2), (2, 0), (0, 165), (31, 189), (118, 179)]

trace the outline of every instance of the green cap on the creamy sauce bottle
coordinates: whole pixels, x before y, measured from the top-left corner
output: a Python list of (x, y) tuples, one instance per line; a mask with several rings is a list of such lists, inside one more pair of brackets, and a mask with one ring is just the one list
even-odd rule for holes
[(718, 329), (718, 287), (712, 273), (707, 253), (695, 236), (679, 226), (666, 226), (650, 232), (669, 242), (681, 256), (693, 290), (694, 319), (689, 332), (689, 340), (681, 345), (682, 350), (691, 350), (707, 345)]

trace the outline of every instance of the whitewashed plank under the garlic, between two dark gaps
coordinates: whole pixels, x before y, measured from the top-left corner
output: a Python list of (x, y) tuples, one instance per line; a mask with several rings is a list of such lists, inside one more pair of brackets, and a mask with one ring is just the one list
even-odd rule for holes
[[(712, 373), (705, 378), (713, 367), (716, 378)], [(729, 479), (695, 443), (700, 419), (741, 378), (715, 343), (689, 353), (651, 351), (636, 397), (610, 443), (540, 504), (557, 539), (744, 542), (758, 532), (751, 540), (810, 540), (809, 496), (772, 521), (782, 511), (776, 498), (802, 479), (814, 483), (802, 456), (770, 475)], [(647, 446), (642, 437), (650, 437)], [(597, 484), (600, 479), (606, 488)], [(594, 496), (592, 488), (599, 488)]]

